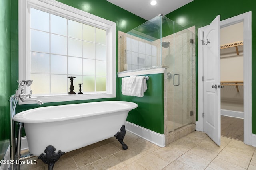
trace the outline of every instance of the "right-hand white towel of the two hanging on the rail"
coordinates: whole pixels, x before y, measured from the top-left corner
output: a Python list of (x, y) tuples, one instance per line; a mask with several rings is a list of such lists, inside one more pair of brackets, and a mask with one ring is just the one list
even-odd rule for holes
[(136, 76), (134, 83), (132, 84), (131, 96), (143, 97), (144, 92), (148, 89), (145, 76)]

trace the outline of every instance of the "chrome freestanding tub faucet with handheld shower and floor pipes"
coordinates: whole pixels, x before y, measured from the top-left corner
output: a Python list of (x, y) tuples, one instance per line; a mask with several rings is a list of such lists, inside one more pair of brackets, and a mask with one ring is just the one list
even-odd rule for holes
[[(10, 131), (11, 131), (11, 136), (10, 136), (10, 162), (11, 162), (11, 167), (9, 168), (10, 170), (19, 170), (20, 169), (20, 164), (19, 162), (22, 160), (30, 159), (32, 157), (35, 157), (35, 155), (28, 154), (26, 156), (22, 156), (20, 154), (21, 150), (21, 130), (23, 127), (23, 123), (19, 123), (19, 129), (18, 129), (18, 135), (17, 135), (17, 142), (15, 138), (15, 123), (13, 120), (14, 115), (16, 114), (15, 108), (17, 106), (18, 100), (20, 99), (22, 102), (26, 101), (34, 101), (38, 105), (43, 104), (42, 101), (40, 100), (34, 100), (34, 99), (26, 99), (26, 97), (31, 98), (32, 97), (32, 90), (30, 91), (30, 94), (24, 93), (24, 88), (23, 86), (26, 84), (26, 86), (30, 86), (32, 84), (33, 80), (23, 80), (19, 84), (18, 89), (16, 90), (15, 94), (10, 96)], [(16, 145), (16, 146), (15, 146)]]

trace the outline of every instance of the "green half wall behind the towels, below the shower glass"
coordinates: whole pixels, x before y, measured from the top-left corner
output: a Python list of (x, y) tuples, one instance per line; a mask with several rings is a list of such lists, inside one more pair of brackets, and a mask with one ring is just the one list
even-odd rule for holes
[(146, 90), (142, 98), (122, 95), (122, 78), (118, 78), (119, 100), (138, 104), (136, 109), (129, 112), (127, 121), (164, 134), (164, 74), (144, 76), (149, 76), (149, 80), (147, 80), (148, 90)]

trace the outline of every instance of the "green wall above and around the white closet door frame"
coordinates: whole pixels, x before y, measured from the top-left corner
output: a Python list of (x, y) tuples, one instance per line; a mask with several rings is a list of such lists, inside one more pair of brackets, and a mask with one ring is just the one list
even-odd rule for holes
[[(252, 87), (256, 85), (256, 1), (255, 0), (194, 0), (185, 6), (167, 14), (166, 17), (183, 27), (196, 26), (198, 28), (209, 25), (220, 14), (220, 20), (252, 11)], [(196, 61), (197, 61), (196, 36)], [(197, 70), (197, 63), (196, 63)], [(197, 75), (197, 74), (196, 74)], [(196, 77), (197, 82), (197, 77)], [(256, 90), (252, 88), (252, 133), (256, 134)], [(197, 103), (197, 102), (196, 102)]]

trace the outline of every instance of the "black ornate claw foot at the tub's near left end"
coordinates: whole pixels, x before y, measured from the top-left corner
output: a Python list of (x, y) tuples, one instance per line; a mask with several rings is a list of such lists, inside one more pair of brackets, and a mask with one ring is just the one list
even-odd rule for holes
[(62, 156), (65, 152), (58, 151), (58, 153), (55, 153), (54, 151), (56, 148), (54, 148), (52, 145), (49, 145), (44, 150), (44, 153), (42, 153), (40, 156), (38, 156), (39, 159), (41, 159), (45, 164), (48, 164), (48, 170), (53, 170), (53, 166), (57, 160), (59, 160), (60, 156)]

